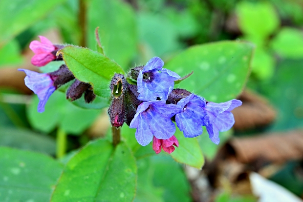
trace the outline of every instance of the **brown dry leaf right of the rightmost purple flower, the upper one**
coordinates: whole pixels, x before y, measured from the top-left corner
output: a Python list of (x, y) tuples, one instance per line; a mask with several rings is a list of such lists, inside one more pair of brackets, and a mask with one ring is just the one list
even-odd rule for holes
[(232, 111), (235, 117), (235, 130), (264, 126), (276, 118), (277, 112), (268, 101), (251, 90), (244, 90), (238, 99), (243, 103)]

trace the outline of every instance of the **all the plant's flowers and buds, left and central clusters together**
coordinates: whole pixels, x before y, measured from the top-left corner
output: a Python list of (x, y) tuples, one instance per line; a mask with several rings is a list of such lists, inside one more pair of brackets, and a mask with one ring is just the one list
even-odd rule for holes
[[(51, 61), (63, 60), (57, 56), (62, 45), (54, 45), (45, 37), (34, 40), (30, 48), (35, 53), (32, 63), (43, 66)], [(115, 74), (110, 82), (111, 104), (108, 115), (111, 125), (120, 127), (126, 122), (136, 128), (135, 138), (146, 146), (151, 141), (153, 150), (158, 154), (163, 149), (172, 153), (179, 142), (174, 136), (175, 124), (186, 138), (194, 138), (206, 126), (209, 138), (219, 143), (219, 131), (229, 130), (235, 123), (231, 111), (242, 104), (231, 100), (223, 103), (206, 101), (185, 89), (173, 89), (180, 78), (176, 73), (163, 68), (164, 62), (154, 57), (145, 66), (131, 69), (127, 78)], [(95, 98), (89, 83), (77, 80), (68, 67), (63, 64), (57, 71), (37, 73), (19, 69), (26, 73), (25, 84), (38, 95), (38, 112), (44, 111), (46, 101), (63, 84), (73, 81), (66, 92), (66, 98), (77, 100), (84, 95), (86, 102)], [(130, 83), (128, 81), (133, 81)], [(175, 124), (173, 123), (175, 121)]]

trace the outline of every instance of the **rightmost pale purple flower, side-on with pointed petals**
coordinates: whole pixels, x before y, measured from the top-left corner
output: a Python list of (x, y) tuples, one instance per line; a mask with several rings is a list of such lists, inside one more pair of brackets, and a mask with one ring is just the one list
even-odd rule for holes
[(207, 102), (204, 108), (208, 115), (206, 125), (209, 138), (216, 144), (220, 142), (219, 131), (227, 131), (235, 123), (234, 115), (231, 111), (242, 104), (239, 100), (231, 100), (222, 103)]

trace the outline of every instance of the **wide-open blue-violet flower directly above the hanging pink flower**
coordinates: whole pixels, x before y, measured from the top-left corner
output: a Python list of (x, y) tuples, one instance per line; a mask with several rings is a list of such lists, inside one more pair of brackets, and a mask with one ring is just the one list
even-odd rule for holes
[(171, 118), (180, 110), (180, 106), (166, 104), (165, 101), (142, 102), (130, 122), (130, 128), (137, 129), (135, 137), (138, 143), (146, 146), (153, 136), (164, 140), (171, 138), (175, 132)]

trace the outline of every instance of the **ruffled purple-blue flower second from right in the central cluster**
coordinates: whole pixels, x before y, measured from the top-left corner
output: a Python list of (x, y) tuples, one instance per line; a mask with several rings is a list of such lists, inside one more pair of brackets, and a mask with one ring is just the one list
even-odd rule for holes
[(207, 123), (206, 101), (204, 98), (191, 94), (177, 103), (181, 107), (175, 121), (186, 138), (194, 138), (203, 132), (202, 126)]

